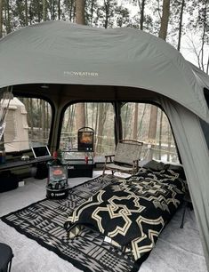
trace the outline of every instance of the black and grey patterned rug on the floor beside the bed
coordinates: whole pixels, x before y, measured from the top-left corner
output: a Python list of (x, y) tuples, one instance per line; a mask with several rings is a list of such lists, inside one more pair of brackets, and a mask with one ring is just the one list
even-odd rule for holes
[(83, 271), (137, 271), (140, 265), (124, 252), (104, 242), (100, 233), (84, 228), (80, 236), (68, 239), (63, 228), (65, 220), (77, 205), (84, 203), (110, 182), (110, 176), (89, 180), (71, 188), (66, 199), (44, 199), (4, 215), (1, 220)]

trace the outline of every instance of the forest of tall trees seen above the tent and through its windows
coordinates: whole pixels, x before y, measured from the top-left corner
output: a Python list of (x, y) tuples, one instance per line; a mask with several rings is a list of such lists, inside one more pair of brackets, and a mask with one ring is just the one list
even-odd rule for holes
[[(0, 0), (0, 37), (45, 20), (68, 20), (100, 28), (138, 28), (163, 38), (186, 60), (208, 74), (208, 12), (208, 0)], [(51, 108), (44, 100), (20, 100), (28, 111), (30, 141), (47, 141)], [(111, 105), (107, 103), (78, 103), (69, 107), (62, 125), (62, 147), (67, 140), (75, 138), (77, 129), (91, 125), (95, 130), (97, 152), (103, 154), (113, 150), (112, 116)], [(123, 116), (126, 118), (124, 138), (152, 140), (153, 148), (157, 146), (158, 149), (163, 144), (169, 150), (174, 146), (168, 121), (157, 107), (128, 103), (124, 113), (122, 111), (122, 119)], [(161, 158), (160, 152), (158, 158)]]

